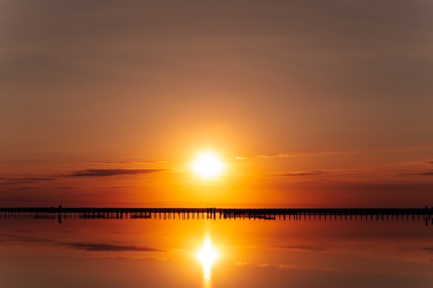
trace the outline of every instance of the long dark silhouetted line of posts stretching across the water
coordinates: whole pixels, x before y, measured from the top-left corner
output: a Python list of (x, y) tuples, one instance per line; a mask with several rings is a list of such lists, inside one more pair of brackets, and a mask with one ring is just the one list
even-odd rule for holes
[(225, 208), (0, 208), (0, 218), (20, 219), (228, 219), (228, 220), (355, 220), (432, 221), (433, 207), (322, 208), (322, 209), (225, 209)]

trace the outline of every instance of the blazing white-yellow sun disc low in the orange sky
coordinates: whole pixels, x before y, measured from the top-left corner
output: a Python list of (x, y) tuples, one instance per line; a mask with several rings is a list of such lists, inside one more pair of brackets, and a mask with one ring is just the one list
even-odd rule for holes
[(201, 153), (192, 163), (192, 170), (203, 179), (210, 179), (221, 175), (223, 162), (212, 152)]

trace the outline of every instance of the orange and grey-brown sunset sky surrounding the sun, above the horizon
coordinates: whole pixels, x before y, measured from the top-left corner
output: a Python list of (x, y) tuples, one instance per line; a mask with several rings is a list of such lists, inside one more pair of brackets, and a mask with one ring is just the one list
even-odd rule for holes
[(1, 0), (0, 206), (431, 206), (432, 13)]

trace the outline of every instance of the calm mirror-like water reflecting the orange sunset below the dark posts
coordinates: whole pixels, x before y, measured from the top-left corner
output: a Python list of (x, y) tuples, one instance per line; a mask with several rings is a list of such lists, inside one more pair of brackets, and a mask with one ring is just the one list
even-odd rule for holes
[(433, 287), (433, 226), (0, 219), (0, 287)]

